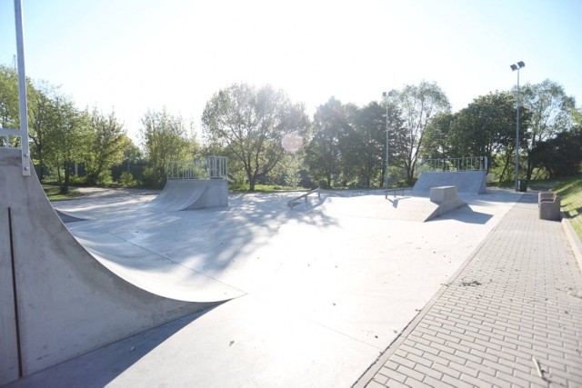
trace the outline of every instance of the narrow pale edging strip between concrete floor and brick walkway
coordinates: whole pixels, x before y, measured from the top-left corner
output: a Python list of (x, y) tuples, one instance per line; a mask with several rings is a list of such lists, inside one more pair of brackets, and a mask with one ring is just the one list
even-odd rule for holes
[[(511, 208), (514, 208), (519, 202), (521, 202), (521, 199), (519, 201), (517, 201), (515, 204), (513, 204), (511, 206)], [(509, 209), (509, 211), (510, 210), (511, 209)], [(366, 384), (372, 380), (372, 378), (376, 375), (376, 373), (378, 373), (378, 371), (380, 369), (382, 369), (382, 366), (384, 366), (384, 364), (388, 361), (390, 356), (396, 352), (396, 349), (398, 348), (398, 346), (401, 343), (404, 343), (404, 341), (406, 340), (408, 335), (410, 333), (412, 333), (412, 331), (416, 328), (416, 325), (418, 323), (420, 323), (420, 321), (425, 317), (426, 313), (428, 313), (430, 311), (432, 306), (435, 303), (437, 303), (437, 301), (441, 297), (441, 295), (443, 293), (447, 292), (448, 286), (457, 280), (458, 276), (463, 272), (463, 270), (467, 267), (467, 265), (469, 263), (471, 263), (471, 261), (477, 256), (477, 254), (479, 253), (481, 248), (483, 248), (483, 245), (485, 245), (487, 243), (487, 240), (489, 239), (489, 237), (491, 237), (491, 234), (494, 234), (497, 231), (499, 224), (501, 224), (503, 219), (505, 217), (507, 217), (507, 214), (509, 214), (509, 211), (507, 211), (507, 213), (501, 218), (501, 220), (499, 220), (497, 225), (495, 225), (489, 231), (489, 233), (485, 236), (485, 238), (477, 246), (477, 248), (475, 248), (475, 250), (471, 254), (468, 255), (465, 262), (463, 262), (458, 267), (457, 271), (449, 277), (448, 283), (443, 284), (443, 286), (438, 289), (437, 293), (435, 293), (435, 295), (422, 308), (422, 311), (420, 313), (416, 314), (416, 317), (414, 317), (412, 319), (412, 321), (410, 321), (410, 323), (408, 323), (406, 325), (404, 330), (400, 334), (398, 334), (398, 336), (394, 339), (394, 341), (392, 343), (388, 344), (388, 346), (386, 347), (384, 352), (380, 353), (380, 355), (376, 358), (376, 361), (374, 363), (370, 364), (370, 366), (366, 369), (366, 371), (364, 373), (362, 373), (362, 375), (356, 380), (356, 383), (354, 383), (352, 385), (352, 388), (364, 388), (364, 387), (366, 387)]]

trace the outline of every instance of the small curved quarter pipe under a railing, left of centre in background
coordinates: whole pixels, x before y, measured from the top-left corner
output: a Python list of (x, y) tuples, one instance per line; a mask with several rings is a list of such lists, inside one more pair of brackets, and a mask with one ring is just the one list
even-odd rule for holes
[(146, 206), (170, 212), (228, 206), (228, 183), (225, 179), (168, 179), (162, 193)]

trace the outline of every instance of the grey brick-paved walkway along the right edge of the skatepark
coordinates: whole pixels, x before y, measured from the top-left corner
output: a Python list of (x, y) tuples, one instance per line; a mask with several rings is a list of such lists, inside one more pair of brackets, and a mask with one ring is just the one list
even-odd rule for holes
[(562, 225), (537, 218), (537, 196), (523, 195), (356, 386), (582, 387), (582, 274)]

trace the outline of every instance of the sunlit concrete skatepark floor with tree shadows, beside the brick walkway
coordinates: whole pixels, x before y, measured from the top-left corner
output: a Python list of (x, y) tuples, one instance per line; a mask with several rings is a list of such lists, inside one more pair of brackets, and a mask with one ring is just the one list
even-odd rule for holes
[(461, 195), (468, 206), (419, 223), (397, 208), (426, 198), (324, 194), (289, 209), (295, 195), (234, 194), (193, 212), (148, 208), (153, 195), (55, 203), (140, 287), (237, 297), (13, 385), (349, 386), (518, 198)]

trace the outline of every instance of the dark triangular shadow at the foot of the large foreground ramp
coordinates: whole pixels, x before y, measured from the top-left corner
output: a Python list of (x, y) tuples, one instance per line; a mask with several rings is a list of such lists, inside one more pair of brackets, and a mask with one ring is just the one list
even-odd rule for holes
[(178, 333), (218, 305), (202, 312), (186, 315), (164, 323), (143, 333), (137, 333), (116, 343), (105, 345), (65, 363), (47, 368), (25, 378), (8, 383), (5, 388), (83, 386), (104, 387), (124, 373), (134, 363), (146, 356), (160, 343)]

